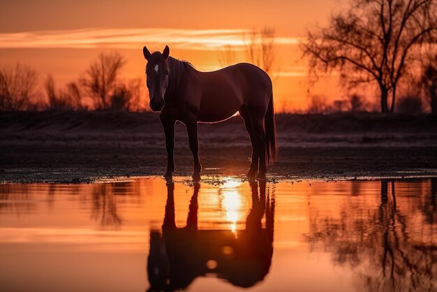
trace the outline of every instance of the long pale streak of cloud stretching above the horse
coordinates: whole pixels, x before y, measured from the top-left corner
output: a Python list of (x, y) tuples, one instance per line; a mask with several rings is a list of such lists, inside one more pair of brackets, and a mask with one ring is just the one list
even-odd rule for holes
[[(246, 29), (75, 29), (0, 34), (0, 48), (118, 48), (170, 45), (186, 50), (244, 48)], [(299, 38), (277, 36), (279, 45), (297, 45)]]

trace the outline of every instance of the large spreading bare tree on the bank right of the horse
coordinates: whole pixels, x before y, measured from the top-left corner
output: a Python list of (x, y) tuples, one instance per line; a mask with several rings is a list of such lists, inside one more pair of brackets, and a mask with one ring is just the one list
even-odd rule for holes
[[(392, 112), (413, 50), (435, 34), (436, 0), (351, 0), (345, 13), (302, 43), (312, 73), (338, 70), (350, 86), (376, 82), (382, 112)], [(388, 97), (392, 96), (389, 106)]]

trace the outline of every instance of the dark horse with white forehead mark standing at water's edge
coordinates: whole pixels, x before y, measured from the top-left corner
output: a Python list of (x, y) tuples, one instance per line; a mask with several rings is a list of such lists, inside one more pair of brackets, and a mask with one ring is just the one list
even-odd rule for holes
[(193, 153), (193, 179), (200, 180), (198, 123), (216, 123), (229, 119), (236, 112), (244, 120), (252, 145), (249, 178), (265, 178), (267, 165), (274, 163), (277, 153), (276, 125), (273, 108), (273, 87), (269, 75), (253, 64), (239, 63), (218, 71), (201, 72), (188, 61), (170, 57), (170, 48), (163, 52), (142, 50), (147, 64), (146, 83), (151, 110), (159, 112), (165, 134), (167, 171), (175, 170), (175, 123), (182, 122), (188, 133)]

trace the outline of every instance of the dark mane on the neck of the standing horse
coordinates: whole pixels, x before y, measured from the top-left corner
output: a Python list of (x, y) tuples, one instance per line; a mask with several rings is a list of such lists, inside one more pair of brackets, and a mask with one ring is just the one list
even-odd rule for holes
[(169, 56), (167, 62), (170, 73), (168, 74), (168, 87), (165, 97), (171, 97), (184, 87), (187, 78), (193, 78), (197, 71), (188, 61), (181, 61)]

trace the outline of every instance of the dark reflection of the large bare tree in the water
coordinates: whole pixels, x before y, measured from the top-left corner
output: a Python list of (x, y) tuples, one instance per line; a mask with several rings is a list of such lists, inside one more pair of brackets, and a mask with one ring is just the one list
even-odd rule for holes
[[(397, 196), (399, 184), (402, 187), (402, 182), (382, 180), (378, 207), (348, 200), (338, 219), (320, 217), (310, 209), (306, 238), (311, 250), (321, 247), (332, 254), (334, 263), (352, 269), (357, 290), (437, 289), (437, 180), (431, 180), (422, 202), (421, 190), (410, 192), (405, 185)], [(414, 209), (423, 219), (411, 216)]]

